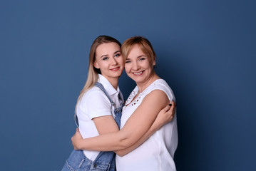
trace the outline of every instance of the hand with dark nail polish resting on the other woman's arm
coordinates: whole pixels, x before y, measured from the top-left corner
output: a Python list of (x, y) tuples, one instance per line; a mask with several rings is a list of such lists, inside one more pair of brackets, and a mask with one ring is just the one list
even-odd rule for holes
[(176, 106), (175, 102), (172, 101), (170, 105), (167, 105), (165, 108), (160, 110), (160, 112), (158, 113), (158, 116), (155, 118), (155, 121), (152, 125), (153, 128), (156, 128), (157, 130), (159, 130), (163, 125), (172, 121), (175, 114), (175, 109), (176, 109), (175, 106)]

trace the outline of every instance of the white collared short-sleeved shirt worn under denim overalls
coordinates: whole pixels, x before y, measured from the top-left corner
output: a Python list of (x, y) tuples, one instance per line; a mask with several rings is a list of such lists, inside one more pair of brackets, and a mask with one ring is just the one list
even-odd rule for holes
[[(98, 82), (103, 85), (113, 102), (119, 107), (121, 105), (121, 102), (118, 100), (119, 87), (116, 90), (105, 77), (101, 74), (98, 74), (98, 76)], [(98, 136), (98, 130), (92, 119), (103, 115), (114, 115), (113, 110), (114, 108), (111, 108), (111, 102), (100, 88), (94, 86), (88, 90), (81, 98), (76, 109), (79, 130), (83, 138)], [(83, 153), (88, 159), (95, 160), (99, 152), (83, 150)]]

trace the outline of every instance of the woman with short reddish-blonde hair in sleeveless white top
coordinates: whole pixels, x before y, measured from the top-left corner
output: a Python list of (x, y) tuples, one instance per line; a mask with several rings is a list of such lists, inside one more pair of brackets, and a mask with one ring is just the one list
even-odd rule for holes
[(176, 115), (132, 152), (118, 153), (145, 140), (143, 136), (148, 135), (158, 112), (169, 100), (175, 100), (168, 84), (155, 74), (155, 52), (146, 38), (129, 38), (122, 45), (122, 54), (126, 60), (126, 73), (137, 86), (123, 107), (121, 130), (86, 139), (76, 130), (73, 146), (75, 149), (114, 150), (118, 154), (118, 171), (176, 170), (173, 160), (178, 145)]

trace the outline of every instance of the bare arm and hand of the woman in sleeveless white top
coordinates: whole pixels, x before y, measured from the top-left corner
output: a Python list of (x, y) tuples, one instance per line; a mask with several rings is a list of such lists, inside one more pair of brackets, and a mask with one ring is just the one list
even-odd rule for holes
[(126, 125), (116, 132), (100, 135), (94, 138), (71, 138), (73, 146), (78, 149), (111, 151), (122, 150), (137, 142), (153, 124), (159, 111), (168, 105), (168, 97), (162, 90), (153, 90), (142, 101)]

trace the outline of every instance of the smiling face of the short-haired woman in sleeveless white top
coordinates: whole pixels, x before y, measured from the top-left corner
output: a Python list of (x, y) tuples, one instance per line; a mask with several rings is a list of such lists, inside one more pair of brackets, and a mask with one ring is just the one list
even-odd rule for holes
[(155, 60), (146, 56), (138, 44), (130, 48), (130, 53), (128, 53), (126, 58), (125, 69), (127, 75), (132, 78), (137, 85), (148, 82), (154, 73), (153, 66), (155, 66)]

